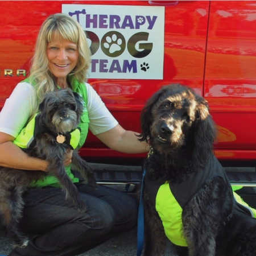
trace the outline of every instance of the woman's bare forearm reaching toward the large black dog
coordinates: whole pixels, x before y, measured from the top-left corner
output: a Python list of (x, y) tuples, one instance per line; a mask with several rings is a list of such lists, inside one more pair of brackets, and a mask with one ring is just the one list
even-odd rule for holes
[(127, 154), (139, 154), (149, 150), (146, 142), (140, 142), (137, 137), (138, 133), (127, 131), (121, 125), (97, 134), (96, 137), (106, 146)]

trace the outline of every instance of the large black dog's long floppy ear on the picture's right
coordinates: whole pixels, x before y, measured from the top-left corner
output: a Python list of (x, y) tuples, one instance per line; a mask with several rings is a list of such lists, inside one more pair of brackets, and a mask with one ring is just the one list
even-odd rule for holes
[(216, 127), (209, 113), (208, 102), (203, 97), (197, 97), (196, 120), (193, 123), (192, 162), (204, 166), (213, 152), (213, 142), (216, 137)]

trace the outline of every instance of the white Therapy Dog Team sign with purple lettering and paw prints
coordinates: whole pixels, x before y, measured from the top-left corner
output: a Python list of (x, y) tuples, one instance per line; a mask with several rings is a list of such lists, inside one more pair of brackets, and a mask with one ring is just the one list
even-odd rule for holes
[(163, 79), (164, 7), (62, 5), (84, 28), (89, 78)]

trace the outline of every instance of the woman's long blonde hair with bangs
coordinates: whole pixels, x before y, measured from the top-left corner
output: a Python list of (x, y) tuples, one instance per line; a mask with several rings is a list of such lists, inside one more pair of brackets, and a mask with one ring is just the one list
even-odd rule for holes
[(90, 65), (90, 49), (86, 35), (76, 20), (66, 14), (53, 14), (44, 20), (36, 40), (35, 53), (32, 59), (30, 77), (35, 83), (38, 102), (44, 94), (55, 90), (55, 80), (48, 68), (47, 45), (54, 34), (61, 39), (77, 44), (79, 59), (76, 67), (68, 76), (73, 75), (79, 82), (86, 81), (86, 73)]

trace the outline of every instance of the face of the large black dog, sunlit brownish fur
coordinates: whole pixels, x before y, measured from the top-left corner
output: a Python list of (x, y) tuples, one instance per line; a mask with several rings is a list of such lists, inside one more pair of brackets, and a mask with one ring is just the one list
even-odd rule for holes
[(191, 90), (180, 87), (160, 96), (151, 111), (150, 143), (159, 151), (184, 146), (193, 122), (209, 114)]

